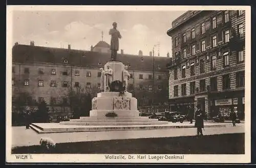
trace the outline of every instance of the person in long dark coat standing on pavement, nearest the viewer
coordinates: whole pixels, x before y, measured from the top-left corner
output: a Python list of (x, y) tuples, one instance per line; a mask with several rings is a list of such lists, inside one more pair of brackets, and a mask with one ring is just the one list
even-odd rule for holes
[(197, 135), (203, 136), (202, 128), (204, 128), (204, 111), (201, 110), (200, 104), (197, 105), (197, 110), (195, 113), (195, 127), (197, 128)]

